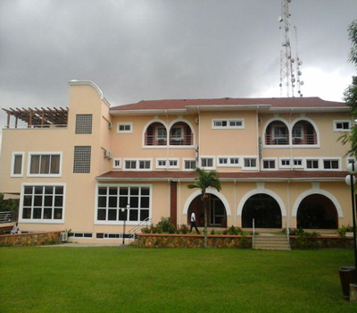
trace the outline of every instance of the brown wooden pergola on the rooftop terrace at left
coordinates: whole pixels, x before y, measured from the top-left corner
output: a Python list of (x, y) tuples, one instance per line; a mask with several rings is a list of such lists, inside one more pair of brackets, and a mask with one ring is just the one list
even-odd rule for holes
[[(18, 128), (18, 122), (21, 120), (28, 124), (28, 128), (42, 128), (42, 127), (66, 127), (68, 123), (68, 111), (69, 108), (43, 108), (37, 109), (4, 109), (7, 113), (6, 128)], [(15, 117), (15, 124), (10, 124), (11, 116)]]

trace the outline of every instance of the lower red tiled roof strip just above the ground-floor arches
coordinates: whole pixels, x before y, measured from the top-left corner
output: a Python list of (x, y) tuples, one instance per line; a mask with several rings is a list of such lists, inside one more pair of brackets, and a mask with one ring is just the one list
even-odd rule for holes
[[(218, 173), (221, 179), (282, 179), (282, 180), (304, 180), (304, 179), (341, 179), (343, 180), (348, 172), (334, 171), (266, 171), (266, 172), (236, 172)], [(197, 173), (182, 171), (147, 171), (147, 172), (125, 172), (111, 171), (97, 177), (99, 180), (115, 179), (195, 179)]]

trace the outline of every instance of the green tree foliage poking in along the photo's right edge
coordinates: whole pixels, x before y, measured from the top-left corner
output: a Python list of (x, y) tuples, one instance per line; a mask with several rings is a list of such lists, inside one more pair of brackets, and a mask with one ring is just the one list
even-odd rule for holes
[[(353, 63), (357, 68), (357, 20), (354, 20), (348, 27), (348, 38), (351, 40), (351, 51), (348, 55), (348, 62)], [(353, 119), (357, 117), (357, 76), (353, 76), (352, 84), (345, 89), (344, 101), (351, 107)], [(345, 156), (357, 157), (357, 127), (352, 128), (351, 133), (345, 133), (338, 140), (342, 144), (349, 143), (351, 148)]]

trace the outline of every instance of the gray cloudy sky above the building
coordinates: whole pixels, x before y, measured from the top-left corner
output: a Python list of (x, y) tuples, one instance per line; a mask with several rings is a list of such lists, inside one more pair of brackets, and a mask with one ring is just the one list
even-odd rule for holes
[[(293, 0), (290, 11), (303, 95), (341, 100), (357, 1)], [(0, 107), (68, 106), (73, 79), (93, 80), (112, 106), (279, 97), (279, 15), (280, 0), (0, 0)]]

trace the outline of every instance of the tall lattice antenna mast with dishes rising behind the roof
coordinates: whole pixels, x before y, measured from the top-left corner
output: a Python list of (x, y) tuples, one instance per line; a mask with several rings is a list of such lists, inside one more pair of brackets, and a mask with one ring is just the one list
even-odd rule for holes
[[(295, 82), (297, 81), (297, 89), (300, 97), (301, 85), (303, 81), (300, 81), (300, 62), (296, 52), (296, 73), (297, 80), (295, 79), (294, 63), (295, 59), (292, 57), (291, 41), (290, 41), (290, 17), (289, 4), (291, 0), (281, 0), (281, 15), (278, 17), (280, 23), (279, 30), (281, 30), (281, 48), (280, 48), (280, 97), (294, 97)], [(297, 47), (297, 30), (295, 29), (296, 47)], [(300, 75), (299, 75), (300, 72)]]

